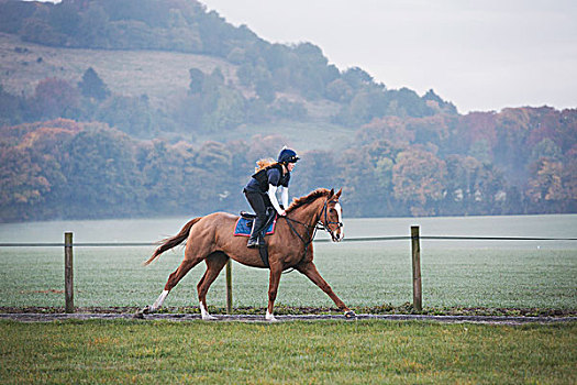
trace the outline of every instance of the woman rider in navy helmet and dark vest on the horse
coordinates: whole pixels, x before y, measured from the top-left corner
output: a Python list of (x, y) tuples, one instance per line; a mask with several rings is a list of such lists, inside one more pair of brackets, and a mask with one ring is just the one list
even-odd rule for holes
[(253, 175), (248, 184), (244, 187), (246, 200), (256, 213), (248, 248), (256, 248), (263, 244), (260, 232), (266, 226), (266, 212), (268, 207), (274, 207), (279, 216), (285, 216), (284, 208), (278, 204), (276, 194), (280, 190), (282, 206), (288, 207), (288, 185), (290, 172), (295, 168), (295, 163), (299, 157), (297, 153), (286, 146), (278, 154), (277, 162), (260, 160), (256, 164), (256, 174)]

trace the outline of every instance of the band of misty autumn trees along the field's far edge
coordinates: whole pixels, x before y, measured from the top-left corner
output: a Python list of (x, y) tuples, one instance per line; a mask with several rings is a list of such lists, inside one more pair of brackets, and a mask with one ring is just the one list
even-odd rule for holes
[[(360, 129), (346, 151), (301, 153), (293, 197), (343, 187), (348, 217), (576, 212), (577, 110), (506, 109)], [(2, 221), (192, 216), (246, 209), (242, 188), (287, 139), (193, 146), (67, 119), (0, 130)], [(297, 148), (298, 150), (298, 148)]]

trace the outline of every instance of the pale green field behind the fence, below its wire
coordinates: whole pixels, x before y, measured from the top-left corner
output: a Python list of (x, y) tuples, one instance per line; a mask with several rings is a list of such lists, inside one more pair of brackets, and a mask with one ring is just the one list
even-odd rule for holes
[[(386, 242), (317, 244), (315, 261), (335, 293), (352, 307), (396, 307), (412, 301), (408, 249)], [(182, 258), (182, 250), (142, 262), (153, 248), (75, 248), (75, 304), (132, 307), (152, 304)], [(423, 306), (577, 309), (577, 250), (439, 250), (422, 252)], [(0, 248), (0, 307), (63, 307), (60, 248)], [(195, 267), (165, 306), (198, 306)], [(268, 271), (233, 264), (235, 307), (267, 304)], [(211, 287), (209, 305), (224, 307), (224, 274)], [(278, 305), (332, 307), (317, 286), (297, 272), (280, 280)]]

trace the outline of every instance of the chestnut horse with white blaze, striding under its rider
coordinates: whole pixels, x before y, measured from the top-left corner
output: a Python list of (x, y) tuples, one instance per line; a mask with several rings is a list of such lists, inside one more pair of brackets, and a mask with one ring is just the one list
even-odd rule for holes
[[(274, 305), (278, 284), (284, 271), (293, 268), (309, 277), (319, 286), (334, 304), (344, 311), (346, 318), (356, 317), (346, 305), (334, 294), (331, 286), (319, 274), (313, 263), (312, 240), (317, 229), (323, 229), (331, 235), (333, 242), (344, 238), (342, 207), (339, 202), (342, 189), (319, 188), (309, 195), (295, 199), (286, 209), (286, 216), (278, 217), (275, 233), (267, 235), (268, 244), (268, 306), (265, 320), (276, 321)], [(144, 263), (151, 264), (162, 253), (186, 241), (185, 258), (178, 268), (168, 276), (168, 280), (156, 301), (138, 310), (135, 317), (143, 318), (162, 307), (168, 293), (196, 265), (204, 261), (207, 271), (197, 285), (200, 312), (203, 320), (215, 319), (208, 311), (207, 292), (229, 261), (247, 266), (266, 268), (258, 249), (248, 249), (246, 238), (233, 237), (237, 216), (228, 212), (214, 212), (198, 217), (186, 223), (180, 232), (162, 241), (154, 254)]]

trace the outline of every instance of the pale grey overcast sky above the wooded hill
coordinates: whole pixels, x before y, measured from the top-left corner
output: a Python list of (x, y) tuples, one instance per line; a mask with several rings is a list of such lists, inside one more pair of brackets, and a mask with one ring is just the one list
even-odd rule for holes
[(275, 43), (311, 42), (462, 113), (577, 107), (575, 0), (200, 0)]

